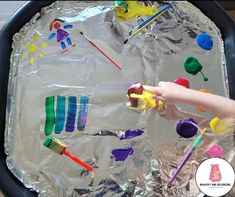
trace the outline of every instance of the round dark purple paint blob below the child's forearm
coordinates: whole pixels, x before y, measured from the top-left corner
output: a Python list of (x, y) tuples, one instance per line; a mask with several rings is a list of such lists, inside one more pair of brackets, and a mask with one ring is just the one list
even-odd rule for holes
[(190, 138), (196, 135), (198, 128), (192, 118), (180, 120), (176, 125), (176, 132), (183, 138)]

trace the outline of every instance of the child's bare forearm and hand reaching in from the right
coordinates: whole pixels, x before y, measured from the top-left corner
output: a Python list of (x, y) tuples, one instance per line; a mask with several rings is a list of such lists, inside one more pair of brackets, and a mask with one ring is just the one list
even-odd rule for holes
[(235, 101), (223, 96), (188, 89), (171, 82), (159, 82), (157, 87), (146, 86), (144, 89), (154, 93), (153, 98), (162, 100), (167, 105), (187, 104), (202, 108), (219, 118), (235, 116)]

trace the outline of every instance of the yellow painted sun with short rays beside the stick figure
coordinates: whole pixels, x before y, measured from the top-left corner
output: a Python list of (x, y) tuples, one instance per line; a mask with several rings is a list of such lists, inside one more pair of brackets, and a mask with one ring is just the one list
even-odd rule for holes
[(30, 44), (26, 44), (26, 47), (23, 49), (24, 52), (22, 54), (23, 58), (28, 57), (29, 62), (34, 64), (37, 61), (37, 58), (43, 58), (44, 54), (42, 53), (42, 49), (47, 47), (47, 43), (43, 42), (38, 34), (34, 34), (32, 41)]

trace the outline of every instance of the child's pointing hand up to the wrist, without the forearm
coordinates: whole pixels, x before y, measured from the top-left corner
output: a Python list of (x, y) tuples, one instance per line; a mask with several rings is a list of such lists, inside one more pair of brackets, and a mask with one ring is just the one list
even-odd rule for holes
[(189, 91), (189, 89), (184, 86), (163, 81), (159, 82), (157, 87), (147, 86), (145, 90), (156, 94), (153, 98), (172, 104), (184, 101)]

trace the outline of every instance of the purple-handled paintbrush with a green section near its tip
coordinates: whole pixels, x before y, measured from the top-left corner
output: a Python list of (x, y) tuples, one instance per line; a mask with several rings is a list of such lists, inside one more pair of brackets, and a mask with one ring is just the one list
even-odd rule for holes
[(204, 129), (202, 131), (202, 133), (199, 136), (197, 136), (197, 138), (193, 142), (192, 147), (185, 153), (183, 159), (181, 160), (180, 164), (176, 168), (175, 172), (172, 174), (172, 176), (168, 180), (167, 186), (170, 185), (174, 181), (175, 177), (179, 174), (180, 170), (183, 168), (183, 166), (189, 160), (189, 158), (193, 154), (194, 150), (199, 147), (199, 145), (201, 144), (201, 142), (203, 140), (203, 135), (204, 135), (205, 131), (206, 131), (206, 129)]

